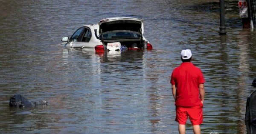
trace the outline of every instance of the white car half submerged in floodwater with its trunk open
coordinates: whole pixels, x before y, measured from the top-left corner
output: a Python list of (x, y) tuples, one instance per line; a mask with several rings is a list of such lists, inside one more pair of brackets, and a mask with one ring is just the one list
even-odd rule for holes
[[(65, 47), (86, 51), (109, 51), (115, 47), (127, 49), (152, 49), (143, 37), (143, 20), (132, 17), (113, 17), (100, 20), (98, 24), (81, 26), (69, 38), (63, 37)], [(117, 48), (116, 48), (117, 47)], [(119, 48), (118, 48), (119, 47)]]

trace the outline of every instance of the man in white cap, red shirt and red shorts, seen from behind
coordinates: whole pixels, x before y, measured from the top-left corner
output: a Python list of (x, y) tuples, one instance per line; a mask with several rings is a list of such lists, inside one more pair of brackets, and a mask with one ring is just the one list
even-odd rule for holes
[(175, 68), (171, 76), (172, 95), (176, 106), (176, 119), (179, 133), (185, 134), (186, 120), (189, 117), (194, 134), (201, 134), (203, 123), (204, 76), (202, 71), (192, 63), (189, 49), (181, 51), (182, 63)]

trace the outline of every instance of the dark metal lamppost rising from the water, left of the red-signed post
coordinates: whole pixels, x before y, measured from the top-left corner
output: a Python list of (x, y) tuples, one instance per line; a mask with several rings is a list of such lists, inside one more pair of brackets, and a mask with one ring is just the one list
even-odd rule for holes
[(226, 34), (224, 0), (220, 0), (220, 31), (219, 34)]

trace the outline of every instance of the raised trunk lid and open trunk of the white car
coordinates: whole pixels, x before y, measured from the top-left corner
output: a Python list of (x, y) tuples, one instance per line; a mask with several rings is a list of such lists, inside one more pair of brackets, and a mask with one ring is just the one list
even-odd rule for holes
[(143, 49), (143, 20), (129, 17), (118, 17), (101, 20), (99, 23), (99, 38), (107, 46), (108, 43), (119, 42), (122, 46), (131, 48), (136, 44)]

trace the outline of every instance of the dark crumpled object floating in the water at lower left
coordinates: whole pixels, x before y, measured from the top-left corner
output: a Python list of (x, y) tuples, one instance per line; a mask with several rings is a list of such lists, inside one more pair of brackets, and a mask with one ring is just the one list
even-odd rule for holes
[(47, 105), (47, 101), (45, 100), (38, 100), (38, 101), (28, 101), (22, 95), (15, 94), (13, 97), (10, 98), (10, 106), (14, 107), (31, 107), (36, 105)]

